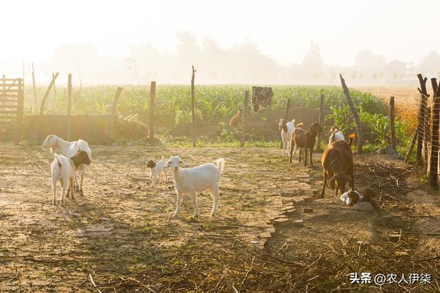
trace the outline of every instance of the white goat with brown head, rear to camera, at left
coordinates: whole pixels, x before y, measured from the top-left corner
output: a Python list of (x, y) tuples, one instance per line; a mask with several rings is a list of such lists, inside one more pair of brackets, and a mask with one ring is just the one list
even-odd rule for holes
[(65, 196), (70, 191), (72, 194), (72, 198), (74, 196), (74, 174), (75, 168), (78, 165), (89, 165), (90, 159), (87, 155), (87, 152), (82, 150), (78, 150), (75, 156), (72, 156), (72, 159), (67, 159), (62, 154), (54, 154), (54, 161), (51, 164), (51, 173), (52, 173), (52, 194), (54, 198), (52, 198), (52, 204), (55, 204), (56, 200), (56, 181), (61, 181), (61, 206), (65, 205)]

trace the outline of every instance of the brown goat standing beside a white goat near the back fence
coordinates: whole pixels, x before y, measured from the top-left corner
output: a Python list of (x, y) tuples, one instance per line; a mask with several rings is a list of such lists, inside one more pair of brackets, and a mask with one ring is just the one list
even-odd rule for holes
[(312, 156), (314, 154), (314, 146), (316, 143), (316, 136), (322, 131), (321, 126), (318, 122), (311, 124), (309, 131), (300, 128), (303, 126), (302, 123), (296, 125), (294, 134), (292, 135), (292, 141), (290, 142), (290, 156), (289, 163), (292, 163), (292, 152), (294, 148), (300, 148), (300, 154), (298, 156), (298, 161), (301, 163), (301, 150), (304, 149), (304, 165), (307, 166), (307, 150), (310, 150), (310, 165), (313, 166)]

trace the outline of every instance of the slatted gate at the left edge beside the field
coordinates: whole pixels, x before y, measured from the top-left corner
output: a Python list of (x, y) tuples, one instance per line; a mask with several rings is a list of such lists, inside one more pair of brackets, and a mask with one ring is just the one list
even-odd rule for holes
[(21, 78), (0, 79), (0, 140), (15, 141), (21, 139), (23, 124), (24, 81)]

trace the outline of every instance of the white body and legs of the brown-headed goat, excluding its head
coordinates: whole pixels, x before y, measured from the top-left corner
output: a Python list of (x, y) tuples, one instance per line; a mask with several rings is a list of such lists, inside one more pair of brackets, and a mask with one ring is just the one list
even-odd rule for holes
[[(71, 192), (72, 198), (74, 198), (74, 174), (75, 165), (72, 160), (67, 159), (62, 154), (54, 154), (55, 159), (50, 165), (52, 172), (52, 204), (55, 204), (56, 200), (56, 182), (61, 181), (61, 206), (65, 205), (65, 196), (67, 192)], [(69, 190), (68, 190), (69, 189)]]

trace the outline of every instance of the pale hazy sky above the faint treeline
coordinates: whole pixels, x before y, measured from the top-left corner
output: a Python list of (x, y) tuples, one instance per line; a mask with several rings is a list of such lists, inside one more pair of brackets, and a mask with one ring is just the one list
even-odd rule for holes
[[(224, 48), (250, 39), (283, 65), (310, 41), (327, 64), (353, 65), (361, 49), (387, 61), (419, 62), (439, 50), (438, 1), (2, 1), (0, 61), (47, 60), (61, 43), (92, 43), (103, 56), (130, 44), (175, 51), (176, 33), (209, 36)], [(434, 14), (432, 14), (434, 13)]]

